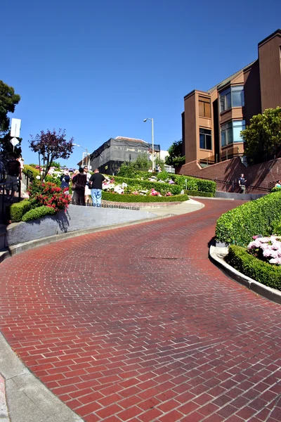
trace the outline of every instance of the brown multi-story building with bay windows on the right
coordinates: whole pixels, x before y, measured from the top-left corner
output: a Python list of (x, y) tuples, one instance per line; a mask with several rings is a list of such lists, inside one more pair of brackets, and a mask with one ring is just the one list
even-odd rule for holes
[(184, 97), (185, 162), (202, 167), (242, 155), (240, 132), (253, 115), (281, 106), (281, 30), (258, 44), (257, 60), (209, 91)]

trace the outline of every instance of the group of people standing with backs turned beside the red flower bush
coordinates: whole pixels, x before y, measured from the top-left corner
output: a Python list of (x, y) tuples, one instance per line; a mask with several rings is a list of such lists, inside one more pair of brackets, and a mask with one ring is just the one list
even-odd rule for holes
[[(89, 167), (80, 167), (72, 174), (72, 204), (86, 205), (91, 195), (93, 207), (101, 207), (101, 193), (103, 189), (103, 181), (105, 177), (100, 174), (99, 170), (94, 170), (93, 174), (89, 173)], [(60, 177), (61, 188), (70, 186), (70, 174), (65, 172)]]

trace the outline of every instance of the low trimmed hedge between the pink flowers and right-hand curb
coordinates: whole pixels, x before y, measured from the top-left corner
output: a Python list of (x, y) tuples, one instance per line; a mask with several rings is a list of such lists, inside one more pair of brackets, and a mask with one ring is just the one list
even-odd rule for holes
[(226, 262), (245, 276), (251, 277), (265, 286), (281, 290), (281, 266), (268, 264), (250, 255), (247, 249), (231, 245)]

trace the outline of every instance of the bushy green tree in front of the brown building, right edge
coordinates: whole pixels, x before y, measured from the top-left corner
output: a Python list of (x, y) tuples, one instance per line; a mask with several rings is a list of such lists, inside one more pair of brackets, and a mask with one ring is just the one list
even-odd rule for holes
[(281, 153), (281, 107), (268, 108), (251, 118), (241, 132), (244, 153), (250, 162), (272, 160)]

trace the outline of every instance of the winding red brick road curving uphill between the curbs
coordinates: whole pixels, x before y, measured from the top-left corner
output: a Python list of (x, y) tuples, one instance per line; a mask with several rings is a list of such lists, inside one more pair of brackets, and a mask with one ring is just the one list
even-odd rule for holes
[(239, 203), (202, 202), (1, 264), (1, 331), (85, 421), (281, 421), (281, 307), (211, 264)]

